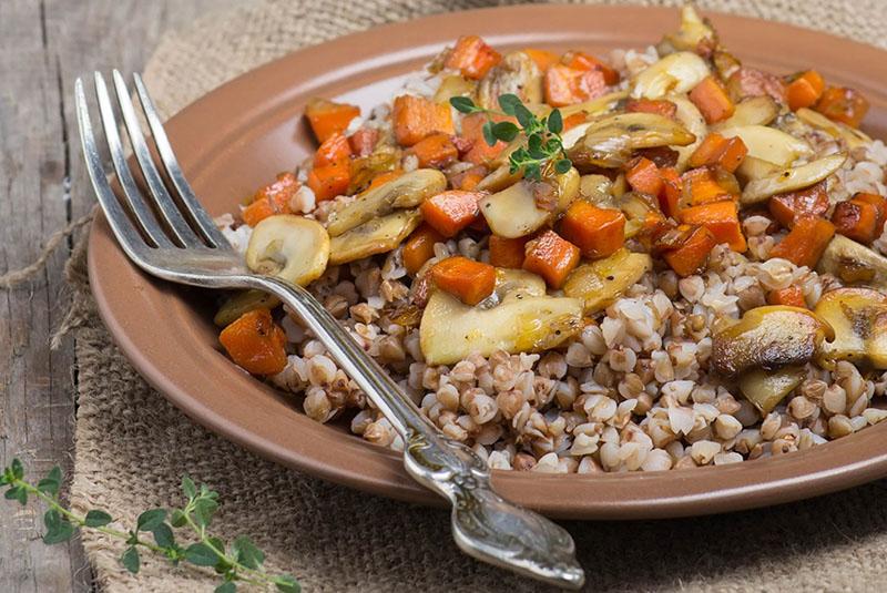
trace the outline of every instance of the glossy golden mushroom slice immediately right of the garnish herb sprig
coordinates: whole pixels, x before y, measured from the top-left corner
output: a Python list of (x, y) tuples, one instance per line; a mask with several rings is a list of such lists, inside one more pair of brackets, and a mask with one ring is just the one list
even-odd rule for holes
[(621, 113), (592, 123), (568, 152), (577, 166), (621, 167), (638, 149), (686, 146), (696, 136), (681, 123), (655, 113)]

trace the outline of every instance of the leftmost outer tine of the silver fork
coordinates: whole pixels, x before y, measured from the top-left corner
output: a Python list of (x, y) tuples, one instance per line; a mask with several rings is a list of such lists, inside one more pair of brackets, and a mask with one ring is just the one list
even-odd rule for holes
[(77, 79), (74, 83), (74, 102), (77, 103), (77, 121), (80, 127), (80, 145), (83, 150), (83, 159), (86, 161), (86, 171), (102, 206), (108, 223), (118, 237), (121, 247), (136, 263), (142, 260), (141, 254), (147, 248), (144, 239), (133, 226), (130, 217), (123, 212), (123, 207), (118, 202), (108, 177), (102, 167), (102, 157), (95, 145), (95, 135), (92, 133), (92, 122), (90, 111), (86, 106), (86, 94), (83, 91), (83, 81)]

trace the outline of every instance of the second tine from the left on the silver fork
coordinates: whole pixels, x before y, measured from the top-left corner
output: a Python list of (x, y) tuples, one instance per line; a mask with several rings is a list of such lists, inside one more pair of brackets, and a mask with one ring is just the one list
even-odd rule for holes
[(102, 116), (102, 126), (104, 127), (105, 140), (108, 147), (111, 152), (111, 161), (114, 164), (114, 171), (118, 174), (123, 194), (132, 208), (135, 216), (135, 222), (144, 231), (145, 235), (157, 247), (173, 247), (173, 243), (166, 236), (166, 233), (157, 224), (154, 214), (142, 197), (142, 192), (135, 184), (135, 180), (130, 171), (130, 165), (126, 164), (126, 156), (123, 152), (123, 145), (120, 142), (120, 133), (118, 132), (118, 120), (114, 116), (114, 109), (111, 106), (111, 98), (108, 94), (108, 86), (105, 86), (104, 79), (99, 72), (95, 72), (95, 95), (99, 98), (99, 113)]

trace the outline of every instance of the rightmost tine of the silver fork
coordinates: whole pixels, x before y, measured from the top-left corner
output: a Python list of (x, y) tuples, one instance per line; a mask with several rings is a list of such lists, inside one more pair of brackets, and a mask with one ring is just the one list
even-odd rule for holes
[(147, 126), (151, 129), (151, 135), (154, 137), (154, 144), (157, 146), (160, 159), (163, 162), (163, 166), (166, 168), (166, 174), (173, 182), (173, 186), (175, 186), (179, 196), (182, 198), (182, 204), (187, 209), (188, 214), (191, 214), (191, 219), (200, 228), (201, 233), (203, 233), (211, 245), (214, 247), (231, 248), (227, 239), (222, 232), (218, 231), (215, 223), (210, 217), (210, 214), (197, 201), (197, 196), (194, 195), (191, 184), (185, 178), (184, 173), (182, 173), (179, 161), (175, 159), (173, 147), (170, 144), (170, 139), (166, 137), (166, 132), (163, 130), (157, 110), (154, 109), (154, 102), (151, 100), (151, 95), (147, 93), (144, 82), (142, 82), (142, 76), (135, 73), (133, 74), (133, 79), (135, 80), (139, 102), (142, 104), (142, 110), (145, 112)]

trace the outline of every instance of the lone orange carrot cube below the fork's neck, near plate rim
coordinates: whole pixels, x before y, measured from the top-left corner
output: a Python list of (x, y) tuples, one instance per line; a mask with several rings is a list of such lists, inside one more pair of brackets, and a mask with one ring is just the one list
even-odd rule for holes
[(253, 375), (276, 375), (286, 367), (286, 334), (266, 308), (241, 315), (218, 336), (234, 364)]

